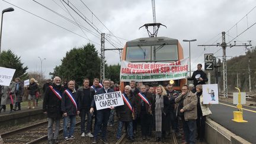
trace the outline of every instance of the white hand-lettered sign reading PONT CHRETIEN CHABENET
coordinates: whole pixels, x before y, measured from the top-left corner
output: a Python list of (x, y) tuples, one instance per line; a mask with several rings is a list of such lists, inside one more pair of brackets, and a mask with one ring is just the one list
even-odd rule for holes
[(124, 105), (121, 91), (94, 95), (97, 110)]

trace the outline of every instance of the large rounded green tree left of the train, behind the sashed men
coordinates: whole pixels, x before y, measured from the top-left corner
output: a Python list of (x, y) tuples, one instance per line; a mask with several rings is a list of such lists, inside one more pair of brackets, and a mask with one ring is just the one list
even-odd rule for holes
[(60, 76), (62, 80), (73, 79), (78, 85), (82, 85), (82, 79), (100, 78), (100, 57), (93, 44), (73, 48), (66, 53), (62, 64), (56, 66), (50, 75)]

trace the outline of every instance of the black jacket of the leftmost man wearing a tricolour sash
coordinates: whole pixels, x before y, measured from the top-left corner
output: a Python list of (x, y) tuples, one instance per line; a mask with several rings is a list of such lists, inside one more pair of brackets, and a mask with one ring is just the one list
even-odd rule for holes
[[(53, 84), (53, 89), (58, 91), (59, 94), (63, 94), (64, 88), (61, 85)], [(61, 100), (57, 98), (50, 87), (47, 87), (44, 92), (43, 112), (47, 112), (47, 117), (53, 119), (62, 118)]]

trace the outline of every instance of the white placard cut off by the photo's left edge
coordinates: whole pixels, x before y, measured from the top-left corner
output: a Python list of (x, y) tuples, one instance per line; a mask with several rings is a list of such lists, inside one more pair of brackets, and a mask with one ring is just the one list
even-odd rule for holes
[(16, 69), (0, 67), (0, 85), (9, 86)]

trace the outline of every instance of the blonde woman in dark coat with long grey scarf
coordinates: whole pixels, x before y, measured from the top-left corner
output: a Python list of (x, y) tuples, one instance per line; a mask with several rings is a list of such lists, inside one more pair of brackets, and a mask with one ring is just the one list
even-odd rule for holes
[(155, 126), (156, 126), (156, 142), (160, 140), (164, 142), (166, 127), (168, 127), (169, 119), (169, 100), (167, 92), (162, 85), (156, 88), (156, 101), (155, 101)]

